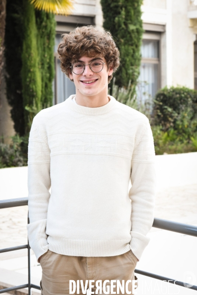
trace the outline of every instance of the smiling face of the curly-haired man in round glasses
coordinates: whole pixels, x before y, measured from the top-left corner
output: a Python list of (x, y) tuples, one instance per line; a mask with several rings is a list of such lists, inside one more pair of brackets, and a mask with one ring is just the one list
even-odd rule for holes
[[(81, 57), (78, 62), (83, 64), (89, 64), (91, 61), (102, 61), (106, 62), (105, 58), (96, 55), (93, 58), (88, 58), (87, 56)], [(85, 70), (82, 74), (76, 75), (75, 73), (69, 74), (70, 79), (73, 79), (76, 87), (76, 92), (79, 91), (84, 96), (94, 96), (105, 93), (108, 89), (108, 76), (112, 75), (113, 69), (108, 69), (107, 64), (103, 64), (103, 69), (99, 73), (93, 72), (89, 65), (85, 66)], [(89, 82), (89, 83), (87, 83)]]

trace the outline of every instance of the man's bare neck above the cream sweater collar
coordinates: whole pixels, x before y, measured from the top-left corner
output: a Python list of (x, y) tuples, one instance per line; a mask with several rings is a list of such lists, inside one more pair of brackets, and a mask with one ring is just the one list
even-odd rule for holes
[(106, 105), (110, 101), (110, 98), (108, 97), (108, 89), (91, 96), (84, 95), (78, 89), (76, 89), (75, 101), (80, 106), (99, 108)]

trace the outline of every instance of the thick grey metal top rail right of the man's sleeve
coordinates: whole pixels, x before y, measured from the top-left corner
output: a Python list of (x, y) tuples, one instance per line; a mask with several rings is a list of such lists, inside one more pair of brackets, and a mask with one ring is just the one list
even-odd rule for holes
[(197, 236), (197, 226), (166, 219), (154, 218), (152, 227), (188, 236)]

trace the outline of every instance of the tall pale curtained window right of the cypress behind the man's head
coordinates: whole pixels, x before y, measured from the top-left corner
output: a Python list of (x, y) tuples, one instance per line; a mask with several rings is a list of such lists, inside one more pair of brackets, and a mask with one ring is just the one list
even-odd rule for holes
[(141, 45), (141, 67), (137, 90), (138, 99), (142, 103), (153, 98), (159, 89), (159, 72), (159, 40), (144, 39)]

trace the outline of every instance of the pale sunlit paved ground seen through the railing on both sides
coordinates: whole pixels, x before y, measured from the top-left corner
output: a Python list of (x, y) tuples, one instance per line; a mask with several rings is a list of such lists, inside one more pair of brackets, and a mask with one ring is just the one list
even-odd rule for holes
[[(28, 207), (0, 209), (0, 249), (27, 244), (27, 216)], [(167, 220), (197, 225), (197, 184), (182, 187), (168, 188), (157, 192), (155, 202), (155, 217)], [(152, 228), (148, 236), (150, 244), (144, 250), (143, 259), (137, 268), (166, 275), (170, 278), (186, 281), (190, 277), (196, 280), (197, 285), (197, 238), (162, 231)], [(0, 254), (0, 269), (14, 271), (18, 274), (27, 274), (27, 250), (13, 251)], [(32, 276), (38, 284), (41, 278), (41, 267), (32, 257)], [(186, 288), (177, 288), (168, 284), (171, 289), (165, 293), (162, 282), (138, 275), (138, 295), (179, 294), (192, 295), (195, 291)], [(180, 279), (179, 279), (180, 278)], [(143, 290), (144, 284), (152, 284), (154, 290)], [(149, 286), (149, 285), (148, 285)], [(163, 288), (163, 289), (162, 289)], [(176, 289), (175, 289), (176, 288)]]

